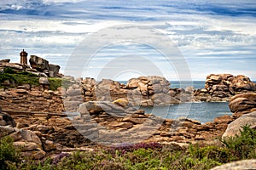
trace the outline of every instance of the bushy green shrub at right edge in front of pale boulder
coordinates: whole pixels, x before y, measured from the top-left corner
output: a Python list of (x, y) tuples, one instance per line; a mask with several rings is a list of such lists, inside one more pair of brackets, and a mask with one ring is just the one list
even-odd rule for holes
[(239, 159), (256, 158), (256, 130), (249, 125), (243, 126), (240, 135), (221, 139), (223, 144), (234, 152)]

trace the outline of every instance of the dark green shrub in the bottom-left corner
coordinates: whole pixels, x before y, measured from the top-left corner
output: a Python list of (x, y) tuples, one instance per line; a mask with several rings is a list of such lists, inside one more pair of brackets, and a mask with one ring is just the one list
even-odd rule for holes
[(16, 150), (13, 139), (9, 136), (0, 139), (0, 166), (2, 169), (11, 169), (20, 163), (20, 150)]

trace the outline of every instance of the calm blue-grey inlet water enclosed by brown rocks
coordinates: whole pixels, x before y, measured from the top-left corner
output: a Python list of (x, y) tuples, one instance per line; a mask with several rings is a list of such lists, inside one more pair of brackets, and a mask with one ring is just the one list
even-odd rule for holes
[(139, 109), (162, 118), (187, 117), (201, 123), (212, 122), (218, 116), (232, 115), (228, 102), (184, 103), (170, 106), (140, 107)]

